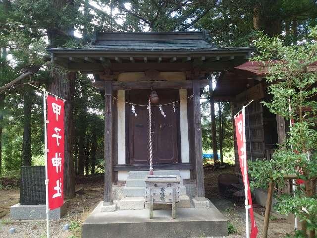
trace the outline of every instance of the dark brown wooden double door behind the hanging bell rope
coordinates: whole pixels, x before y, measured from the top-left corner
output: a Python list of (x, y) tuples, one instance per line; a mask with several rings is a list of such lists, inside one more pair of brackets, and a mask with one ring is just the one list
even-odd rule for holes
[[(178, 90), (156, 90), (160, 104), (176, 101)], [(147, 104), (150, 90), (131, 90), (129, 101), (135, 104)], [(175, 105), (176, 106), (176, 105)], [(177, 112), (173, 106), (152, 107), (152, 153), (153, 163), (175, 163), (178, 160), (177, 149)], [(129, 113), (129, 155), (130, 164), (149, 164), (149, 112), (147, 107), (135, 106), (137, 117)]]

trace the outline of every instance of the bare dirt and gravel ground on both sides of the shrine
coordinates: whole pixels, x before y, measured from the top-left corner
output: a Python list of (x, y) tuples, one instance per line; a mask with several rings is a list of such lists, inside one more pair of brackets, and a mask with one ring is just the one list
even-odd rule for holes
[[(228, 221), (237, 229), (236, 234), (230, 234), (227, 238), (245, 238), (245, 208), (244, 205), (235, 205), (232, 201), (221, 197), (218, 193), (217, 177), (220, 174), (231, 173), (232, 168), (221, 170), (205, 170), (206, 197), (223, 213)], [(66, 203), (67, 214), (64, 218), (51, 221), (51, 238), (80, 238), (80, 225), (96, 207), (103, 197), (103, 180), (100, 179), (76, 179), (76, 187), (82, 187), (80, 195), (69, 199)], [(10, 206), (18, 203), (19, 189), (0, 190), (0, 238), (46, 238), (45, 220), (11, 220), (9, 216)], [(257, 209), (261, 210), (261, 209)], [(262, 209), (264, 211), (264, 209)], [(259, 235), (263, 228), (261, 216), (256, 217), (259, 227)], [(65, 224), (70, 224), (70, 231), (63, 231)], [(16, 232), (9, 234), (10, 228)], [(268, 238), (283, 238), (286, 233), (293, 231), (293, 225), (286, 220), (272, 220), (269, 224)]]

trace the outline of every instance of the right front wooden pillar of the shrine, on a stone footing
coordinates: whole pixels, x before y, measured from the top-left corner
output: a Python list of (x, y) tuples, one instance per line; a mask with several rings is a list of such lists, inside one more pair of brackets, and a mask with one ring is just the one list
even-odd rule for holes
[(202, 124), (200, 112), (200, 80), (193, 80), (194, 145), (196, 161), (196, 197), (205, 197)]

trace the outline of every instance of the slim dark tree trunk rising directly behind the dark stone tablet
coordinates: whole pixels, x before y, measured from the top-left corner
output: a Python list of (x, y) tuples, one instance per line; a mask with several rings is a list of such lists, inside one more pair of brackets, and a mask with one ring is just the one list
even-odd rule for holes
[(23, 92), (23, 145), (22, 166), (31, 166), (31, 110), (32, 93), (26, 89)]

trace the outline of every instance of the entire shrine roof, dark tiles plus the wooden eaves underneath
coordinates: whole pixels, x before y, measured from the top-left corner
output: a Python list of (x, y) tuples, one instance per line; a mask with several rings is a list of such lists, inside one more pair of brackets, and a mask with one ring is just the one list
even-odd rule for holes
[(53, 62), (73, 71), (86, 72), (105, 68), (177, 71), (192, 70), (198, 65), (207, 70), (223, 70), (244, 63), (254, 51), (247, 47), (217, 48), (210, 41), (207, 31), (97, 32), (83, 47), (50, 48), (48, 51)]

